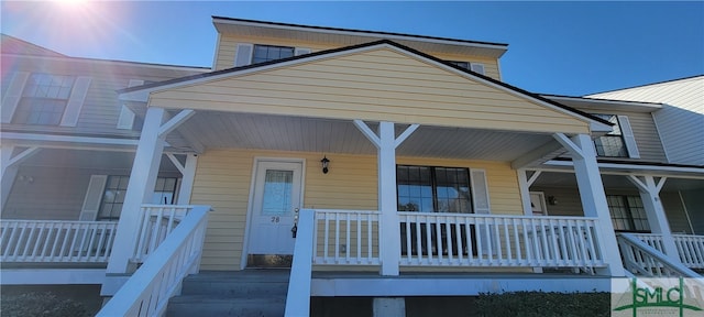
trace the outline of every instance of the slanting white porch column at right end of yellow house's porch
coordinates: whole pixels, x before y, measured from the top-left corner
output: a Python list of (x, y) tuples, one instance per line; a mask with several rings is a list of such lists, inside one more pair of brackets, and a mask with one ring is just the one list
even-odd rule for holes
[(602, 175), (600, 174), (596, 163), (596, 150), (594, 149), (592, 139), (587, 134), (578, 134), (573, 138), (568, 138), (563, 133), (556, 133), (553, 136), (572, 154), (574, 174), (580, 189), (584, 216), (598, 218), (601, 229), (598, 234), (600, 242), (604, 251), (604, 260), (608, 264), (608, 266), (600, 273), (610, 276), (625, 276), (624, 264), (620, 261), (616, 233), (614, 231), (614, 225), (612, 223), (612, 217), (608, 212), (604, 184), (602, 183)]

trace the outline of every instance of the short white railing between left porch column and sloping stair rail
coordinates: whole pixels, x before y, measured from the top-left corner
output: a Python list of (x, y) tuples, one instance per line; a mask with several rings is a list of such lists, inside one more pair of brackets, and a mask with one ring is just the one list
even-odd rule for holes
[(193, 208), (187, 205), (142, 205), (142, 229), (132, 261), (144, 262)]

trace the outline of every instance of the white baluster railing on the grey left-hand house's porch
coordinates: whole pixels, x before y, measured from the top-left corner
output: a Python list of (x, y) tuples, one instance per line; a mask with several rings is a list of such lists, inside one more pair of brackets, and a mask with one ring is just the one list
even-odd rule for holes
[(107, 263), (117, 222), (13, 220), (0, 223), (1, 261)]

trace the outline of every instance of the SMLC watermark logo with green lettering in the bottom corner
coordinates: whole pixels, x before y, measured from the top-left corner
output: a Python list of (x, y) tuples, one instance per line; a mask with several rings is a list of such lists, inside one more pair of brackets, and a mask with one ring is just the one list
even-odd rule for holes
[(612, 316), (704, 316), (702, 278), (614, 278)]

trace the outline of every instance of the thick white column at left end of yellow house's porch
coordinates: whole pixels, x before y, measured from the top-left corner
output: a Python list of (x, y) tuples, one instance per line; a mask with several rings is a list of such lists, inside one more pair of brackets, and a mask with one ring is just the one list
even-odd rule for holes
[(165, 135), (160, 131), (162, 131), (162, 122), (165, 116), (166, 110), (163, 108), (150, 107), (146, 110), (144, 127), (134, 154), (130, 182), (128, 183), (122, 212), (118, 222), (112, 254), (106, 270), (102, 295), (113, 295), (106, 293), (110, 289), (119, 288), (114, 288), (114, 284), (120, 282), (116, 282), (114, 278), (111, 280), (112, 276), (129, 274), (135, 269), (132, 267), (130, 259), (133, 256), (136, 239), (140, 236), (141, 207), (150, 201), (156, 185)]

